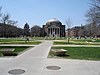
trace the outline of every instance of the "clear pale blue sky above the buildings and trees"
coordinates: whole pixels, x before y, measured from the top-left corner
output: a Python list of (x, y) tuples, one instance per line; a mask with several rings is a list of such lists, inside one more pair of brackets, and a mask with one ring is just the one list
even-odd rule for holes
[(63, 24), (71, 18), (73, 26), (85, 24), (89, 3), (90, 0), (0, 0), (2, 12), (9, 13), (21, 28), (26, 22), (30, 27), (42, 26), (52, 18)]

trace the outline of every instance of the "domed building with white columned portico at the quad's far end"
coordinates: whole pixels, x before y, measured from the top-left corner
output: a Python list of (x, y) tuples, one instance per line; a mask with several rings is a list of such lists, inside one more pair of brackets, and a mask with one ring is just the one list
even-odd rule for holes
[(46, 25), (43, 25), (43, 31), (45, 36), (49, 37), (65, 37), (65, 25), (53, 18), (47, 21)]

